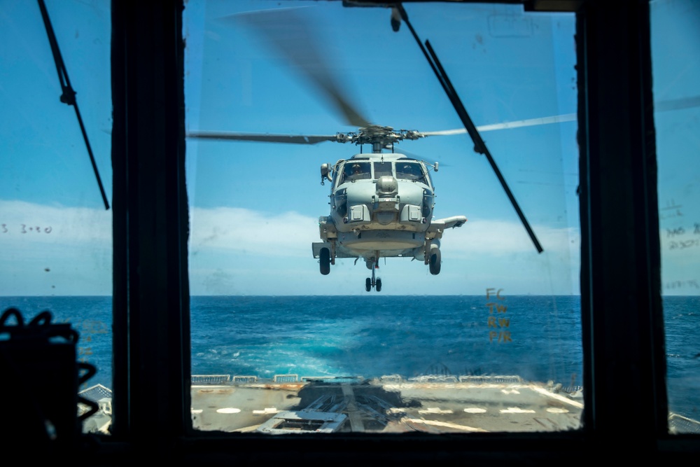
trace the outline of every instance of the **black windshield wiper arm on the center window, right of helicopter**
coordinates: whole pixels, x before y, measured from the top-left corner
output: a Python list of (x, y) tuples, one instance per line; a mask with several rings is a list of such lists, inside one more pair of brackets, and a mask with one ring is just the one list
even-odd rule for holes
[[(498, 177), (498, 181), (500, 181), (500, 185), (503, 186), (503, 190), (505, 190), (505, 194), (507, 195), (508, 199), (510, 200), (511, 204), (513, 205), (515, 212), (517, 212), (518, 217), (520, 218), (520, 221), (523, 223), (525, 230), (527, 230), (528, 235), (530, 236), (530, 239), (532, 240), (533, 244), (535, 244), (535, 249), (537, 249), (538, 253), (542, 253), (543, 249), (542, 249), (542, 246), (540, 245), (540, 242), (538, 241), (537, 237), (535, 237), (535, 232), (533, 232), (532, 228), (530, 227), (530, 223), (528, 223), (527, 219), (525, 218), (525, 214), (523, 214), (523, 211), (520, 209), (520, 206), (518, 205), (518, 202), (515, 200), (515, 197), (514, 197), (513, 193), (510, 191), (510, 188), (508, 188), (508, 184), (505, 183), (505, 178), (503, 178), (503, 174), (500, 173), (500, 169), (498, 169), (498, 166), (496, 165), (496, 161), (493, 160), (493, 157), (491, 156), (489, 149), (486, 148), (486, 144), (484, 143), (484, 140), (482, 139), (481, 135), (479, 134), (479, 130), (477, 130), (474, 123), (472, 123), (472, 119), (469, 118), (469, 115), (468, 115), (466, 109), (464, 108), (464, 105), (462, 104), (461, 99), (459, 99), (459, 96), (457, 95), (456, 90), (454, 90), (454, 88), (452, 87), (452, 83), (449, 81), (449, 78), (447, 77), (447, 73), (445, 73), (444, 69), (442, 68), (442, 65), (440, 64), (440, 60), (437, 60), (437, 55), (435, 55), (435, 50), (433, 50), (433, 48), (430, 46), (430, 42), (428, 42), (428, 41), (426, 41), (426, 46), (423, 47), (423, 44), (421, 43), (421, 40), (418, 37), (418, 34), (416, 34), (415, 30), (413, 29), (413, 26), (411, 25), (411, 23), (408, 20), (408, 15), (406, 14), (406, 11), (403, 9), (403, 6), (401, 4), (396, 4), (396, 6), (394, 6), (393, 8), (396, 8), (396, 11), (398, 11), (398, 13), (400, 14), (400, 17), (403, 20), (403, 22), (405, 22), (406, 25), (408, 26), (408, 29), (411, 30), (411, 34), (413, 34), (414, 38), (416, 39), (416, 42), (418, 43), (418, 46), (423, 51), (423, 55), (426, 56), (428, 63), (430, 63), (430, 67), (435, 72), (435, 76), (437, 76), (437, 80), (440, 81), (440, 84), (442, 85), (442, 89), (444, 89), (444, 92), (447, 94), (449, 101), (452, 103), (452, 106), (454, 106), (454, 110), (457, 112), (457, 115), (462, 120), (462, 124), (464, 125), (465, 130), (467, 130), (467, 132), (469, 133), (469, 136), (472, 138), (472, 141), (474, 141), (474, 151), (486, 156), (486, 160), (488, 160), (489, 164), (491, 164), (491, 168), (493, 169), (493, 172), (496, 173), (496, 177)], [(394, 18), (393, 18), (393, 21), (395, 21)], [(398, 29), (396, 26), (394, 26), (394, 27), (395, 27), (395, 30)], [(427, 51), (426, 51), (426, 48), (427, 48)]]

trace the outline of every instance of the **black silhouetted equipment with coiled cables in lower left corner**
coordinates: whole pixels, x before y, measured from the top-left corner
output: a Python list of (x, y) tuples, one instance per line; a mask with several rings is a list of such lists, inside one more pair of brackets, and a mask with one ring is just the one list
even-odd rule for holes
[[(14, 317), (15, 324), (10, 318)], [(78, 332), (70, 323), (51, 323), (43, 311), (25, 324), (16, 308), (0, 318), (0, 400), (6, 407), (2, 432), (5, 445), (36, 447), (29, 456), (42, 456), (75, 447), (80, 424), (97, 412), (97, 404), (78, 396), (78, 387), (95, 368), (76, 362)], [(78, 417), (78, 402), (90, 410)]]

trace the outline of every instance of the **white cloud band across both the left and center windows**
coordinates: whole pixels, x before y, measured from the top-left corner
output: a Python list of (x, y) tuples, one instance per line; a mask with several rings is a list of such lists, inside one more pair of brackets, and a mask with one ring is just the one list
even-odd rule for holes
[[(111, 293), (111, 215), (102, 209), (0, 201), (0, 294)], [(330, 275), (320, 274), (311, 253), (311, 243), (320, 241), (318, 218), (194, 208), (190, 229), (195, 295), (365, 293), (370, 271), (363, 261), (337, 260)], [(577, 229), (533, 225), (533, 230), (544, 253), (535, 251), (517, 222), (468, 221), (445, 232), (439, 276), (421, 261), (382, 260), (383, 293), (481, 293), (491, 286), (509, 293), (577, 291)]]

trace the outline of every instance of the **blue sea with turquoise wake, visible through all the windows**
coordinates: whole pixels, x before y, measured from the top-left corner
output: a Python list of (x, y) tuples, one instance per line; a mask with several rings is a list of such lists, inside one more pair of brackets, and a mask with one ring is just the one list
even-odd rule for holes
[[(25, 323), (49, 310), (111, 387), (111, 297), (0, 297)], [(700, 418), (700, 297), (664, 298), (669, 407)], [(196, 296), (192, 374), (272, 378), (519, 375), (582, 381), (580, 297)]]

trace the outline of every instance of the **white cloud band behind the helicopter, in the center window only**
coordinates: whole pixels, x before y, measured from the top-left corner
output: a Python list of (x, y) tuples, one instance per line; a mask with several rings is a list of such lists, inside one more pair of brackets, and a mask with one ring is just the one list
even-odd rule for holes
[[(193, 211), (190, 286), (206, 293), (365, 293), (370, 275), (363, 261), (337, 260), (322, 276), (311, 243), (318, 219), (293, 212), (275, 216), (248, 209)], [(482, 293), (489, 286), (509, 293), (577, 293), (580, 235), (576, 228), (533, 225), (545, 251), (537, 253), (521, 224), (469, 221), (442, 238), (439, 276), (421, 261), (382, 260), (383, 293)]]

